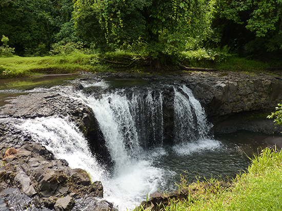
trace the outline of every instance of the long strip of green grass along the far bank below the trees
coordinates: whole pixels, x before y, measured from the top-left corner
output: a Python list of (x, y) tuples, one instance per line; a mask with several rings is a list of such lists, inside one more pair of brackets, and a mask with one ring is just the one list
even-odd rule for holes
[[(180, 55), (179, 64), (189, 67), (214, 68), (219, 71), (264, 72), (270, 64), (229, 56), (216, 59), (212, 56), (184, 52)], [(166, 65), (158, 73), (170, 73), (179, 65)], [(18, 78), (42, 74), (66, 74), (79, 71), (87, 72), (155, 72), (149, 65), (146, 56), (134, 55), (128, 52), (113, 52), (106, 54), (71, 54), (46, 57), (8, 57), (0, 58), (0, 78)]]

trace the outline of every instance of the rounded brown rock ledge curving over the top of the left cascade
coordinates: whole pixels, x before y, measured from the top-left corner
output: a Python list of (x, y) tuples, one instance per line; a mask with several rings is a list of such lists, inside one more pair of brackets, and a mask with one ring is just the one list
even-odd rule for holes
[(90, 108), (82, 102), (58, 93), (33, 93), (9, 100), (0, 110), (0, 118), (36, 118), (47, 116), (69, 116), (78, 128), (87, 134), (95, 125)]

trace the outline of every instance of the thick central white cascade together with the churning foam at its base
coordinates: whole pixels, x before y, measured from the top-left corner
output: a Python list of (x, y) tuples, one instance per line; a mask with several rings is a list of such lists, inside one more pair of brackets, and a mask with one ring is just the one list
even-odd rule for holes
[[(145, 121), (138, 114), (145, 112), (147, 108), (142, 99), (134, 94), (129, 100), (124, 90), (106, 93), (100, 99), (94, 96), (82, 98), (92, 108), (111, 158), (115, 162), (112, 178), (103, 183), (106, 198), (119, 204), (121, 210), (133, 208), (144, 200), (147, 193), (157, 191), (157, 185), (163, 180), (163, 170), (152, 167), (150, 161), (144, 159), (146, 154), (139, 145), (140, 137), (146, 134), (138, 134), (136, 123), (141, 119)], [(151, 93), (144, 102), (156, 104)], [(157, 105), (151, 107), (148, 118), (157, 108), (159, 109)], [(146, 124), (146, 121), (143, 123)]]

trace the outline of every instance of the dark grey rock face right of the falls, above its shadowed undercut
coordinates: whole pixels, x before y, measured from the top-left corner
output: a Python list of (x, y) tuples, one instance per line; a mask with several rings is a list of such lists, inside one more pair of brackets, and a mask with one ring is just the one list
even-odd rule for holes
[(213, 119), (270, 109), (282, 100), (282, 79), (266, 74), (197, 72), (184, 80)]

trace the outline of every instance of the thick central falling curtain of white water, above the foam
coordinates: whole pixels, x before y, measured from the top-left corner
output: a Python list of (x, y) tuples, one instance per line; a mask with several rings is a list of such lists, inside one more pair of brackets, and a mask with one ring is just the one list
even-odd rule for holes
[(106, 93), (101, 99), (90, 96), (88, 105), (93, 109), (103, 132), (116, 171), (126, 166), (132, 158), (139, 157), (141, 148), (124, 92)]

